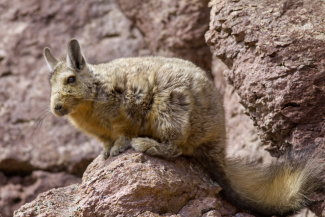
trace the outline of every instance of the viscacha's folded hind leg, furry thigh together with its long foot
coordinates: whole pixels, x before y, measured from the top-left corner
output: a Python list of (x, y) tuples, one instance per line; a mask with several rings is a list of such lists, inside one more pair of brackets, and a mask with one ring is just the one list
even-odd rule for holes
[[(155, 137), (134, 138), (131, 146), (140, 152), (165, 158), (177, 157), (183, 153), (179, 145), (186, 144), (190, 129), (191, 97), (187, 87), (172, 89), (155, 100), (150, 113), (150, 125), (153, 126)], [(153, 118), (154, 117), (154, 118)]]

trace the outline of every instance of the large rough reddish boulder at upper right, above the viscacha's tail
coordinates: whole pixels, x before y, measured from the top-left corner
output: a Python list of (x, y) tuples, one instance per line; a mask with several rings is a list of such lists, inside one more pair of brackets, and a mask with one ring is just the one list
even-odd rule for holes
[(206, 41), (273, 155), (324, 144), (324, 2), (211, 1)]

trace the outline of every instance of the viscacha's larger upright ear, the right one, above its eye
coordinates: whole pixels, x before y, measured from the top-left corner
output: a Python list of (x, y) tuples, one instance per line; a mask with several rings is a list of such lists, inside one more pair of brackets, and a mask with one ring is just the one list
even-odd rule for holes
[(69, 68), (79, 71), (86, 66), (86, 61), (81, 54), (81, 48), (77, 39), (72, 39), (68, 44), (67, 64)]

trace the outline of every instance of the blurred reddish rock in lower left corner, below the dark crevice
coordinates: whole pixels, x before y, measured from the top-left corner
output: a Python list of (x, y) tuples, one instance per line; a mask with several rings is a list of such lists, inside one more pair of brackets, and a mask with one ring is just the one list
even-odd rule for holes
[(39, 193), (81, 182), (79, 177), (65, 172), (49, 173), (45, 171), (33, 171), (26, 177), (13, 176), (10, 178), (6, 178), (0, 172), (0, 180), (0, 213), (3, 217), (12, 216), (14, 210), (34, 200)]

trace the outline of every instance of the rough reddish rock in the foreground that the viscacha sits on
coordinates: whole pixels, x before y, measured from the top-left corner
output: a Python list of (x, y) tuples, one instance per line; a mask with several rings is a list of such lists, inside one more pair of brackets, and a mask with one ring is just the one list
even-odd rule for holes
[(197, 165), (194, 159), (166, 161), (133, 150), (107, 161), (99, 156), (80, 185), (42, 193), (14, 216), (236, 215), (238, 210), (220, 198), (221, 188)]

